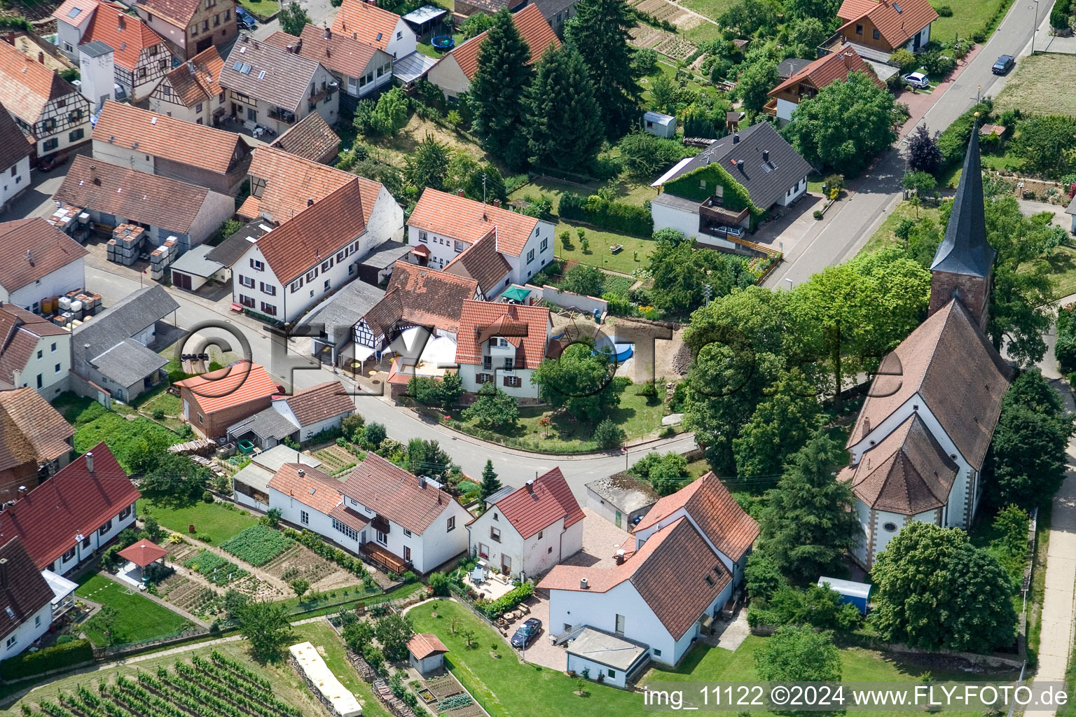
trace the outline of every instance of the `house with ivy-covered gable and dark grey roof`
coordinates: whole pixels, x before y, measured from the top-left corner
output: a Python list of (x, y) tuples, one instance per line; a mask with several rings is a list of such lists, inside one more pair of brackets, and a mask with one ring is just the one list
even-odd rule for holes
[(774, 206), (807, 191), (813, 170), (769, 123), (728, 134), (677, 162), (650, 186), (654, 231), (677, 229), (699, 244), (745, 252), (742, 241)]

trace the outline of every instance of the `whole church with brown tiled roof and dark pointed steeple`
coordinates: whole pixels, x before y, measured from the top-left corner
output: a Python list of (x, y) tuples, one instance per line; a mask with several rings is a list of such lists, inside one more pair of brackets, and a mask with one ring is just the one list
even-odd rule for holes
[(931, 263), (930, 313), (887, 355), (837, 475), (855, 494), (870, 570), (904, 526), (971, 526), (982, 464), (1013, 370), (986, 336), (995, 252), (987, 242), (978, 132), (973, 129), (945, 239)]

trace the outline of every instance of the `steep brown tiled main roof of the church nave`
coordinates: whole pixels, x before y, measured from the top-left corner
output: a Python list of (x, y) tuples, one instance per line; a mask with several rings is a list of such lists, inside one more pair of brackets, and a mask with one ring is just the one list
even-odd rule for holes
[(848, 447), (918, 392), (942, 430), (978, 470), (1011, 375), (1013, 370), (954, 299), (882, 359)]

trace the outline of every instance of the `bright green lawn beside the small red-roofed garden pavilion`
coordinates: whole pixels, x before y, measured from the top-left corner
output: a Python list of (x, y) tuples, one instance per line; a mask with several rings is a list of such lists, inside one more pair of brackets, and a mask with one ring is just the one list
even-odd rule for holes
[[(131, 593), (130, 588), (114, 580), (90, 573), (80, 582), (75, 594), (86, 600), (93, 600), (116, 610), (116, 621), (112, 627), (113, 644), (125, 645), (146, 642), (170, 636), (190, 623), (167, 607), (153, 602), (138, 593)], [(105, 628), (100, 620), (91, 617), (84, 626), (86, 636), (99, 647), (109, 644), (102, 633)]]

